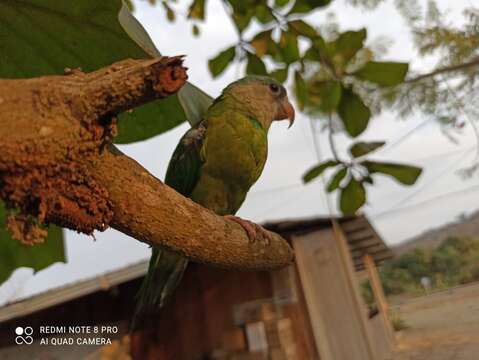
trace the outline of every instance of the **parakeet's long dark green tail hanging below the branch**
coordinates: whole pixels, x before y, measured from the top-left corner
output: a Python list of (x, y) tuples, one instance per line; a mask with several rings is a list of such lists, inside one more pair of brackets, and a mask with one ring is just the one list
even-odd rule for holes
[(165, 305), (180, 283), (187, 265), (185, 257), (153, 247), (148, 273), (137, 295), (131, 330), (136, 328), (143, 315), (157, 312)]

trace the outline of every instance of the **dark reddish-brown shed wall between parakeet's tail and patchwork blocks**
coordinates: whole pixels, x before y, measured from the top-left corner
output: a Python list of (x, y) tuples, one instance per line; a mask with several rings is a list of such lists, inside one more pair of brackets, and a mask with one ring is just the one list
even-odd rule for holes
[[(206, 358), (221, 348), (233, 326), (233, 306), (272, 296), (267, 272), (233, 272), (190, 264), (174, 299), (161, 318), (132, 339), (132, 355), (141, 360)], [(158, 326), (159, 324), (159, 326)]]

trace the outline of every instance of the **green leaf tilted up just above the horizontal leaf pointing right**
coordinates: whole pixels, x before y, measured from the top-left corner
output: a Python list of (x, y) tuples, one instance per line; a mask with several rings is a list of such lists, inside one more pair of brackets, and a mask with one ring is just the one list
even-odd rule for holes
[(339, 37), (327, 44), (329, 56), (333, 63), (339, 69), (343, 69), (346, 64), (356, 55), (356, 53), (364, 46), (364, 40), (367, 37), (366, 29), (359, 31), (346, 31)]

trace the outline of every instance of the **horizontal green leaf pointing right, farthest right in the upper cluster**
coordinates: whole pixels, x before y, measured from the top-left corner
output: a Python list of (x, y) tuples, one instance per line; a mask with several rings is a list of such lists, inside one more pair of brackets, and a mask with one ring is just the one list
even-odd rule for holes
[(369, 61), (353, 75), (379, 86), (395, 86), (404, 82), (408, 69), (407, 63)]

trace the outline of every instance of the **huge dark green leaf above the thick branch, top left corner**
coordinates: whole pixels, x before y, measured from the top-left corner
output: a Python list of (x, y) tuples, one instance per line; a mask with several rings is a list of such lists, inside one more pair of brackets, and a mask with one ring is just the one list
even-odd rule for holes
[(119, 0), (0, 2), (0, 77), (59, 75), (65, 67), (93, 71), (147, 57), (120, 26), (121, 6)]

